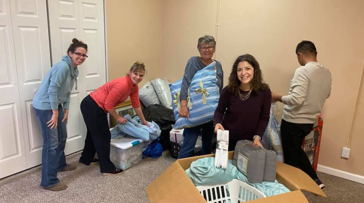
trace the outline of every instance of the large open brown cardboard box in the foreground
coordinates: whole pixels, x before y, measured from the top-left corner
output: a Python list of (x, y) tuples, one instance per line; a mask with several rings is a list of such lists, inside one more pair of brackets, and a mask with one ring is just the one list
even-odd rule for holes
[[(229, 152), (232, 159), (234, 152)], [(204, 157), (215, 157), (215, 154), (185, 158), (172, 163), (154, 182), (147, 187), (150, 203), (206, 203), (199, 190), (184, 172), (192, 161)], [(326, 194), (317, 184), (298, 168), (277, 162), (278, 182), (286, 186), (291, 192), (266, 197), (259, 200), (249, 201), (251, 203), (308, 203), (306, 197), (300, 190), (306, 190), (322, 197)]]

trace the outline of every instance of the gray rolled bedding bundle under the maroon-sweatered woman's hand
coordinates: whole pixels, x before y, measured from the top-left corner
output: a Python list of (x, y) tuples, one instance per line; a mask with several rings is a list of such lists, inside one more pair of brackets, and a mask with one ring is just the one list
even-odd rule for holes
[(245, 174), (250, 183), (274, 182), (277, 170), (277, 155), (272, 150), (253, 146), (249, 140), (236, 143), (232, 164)]

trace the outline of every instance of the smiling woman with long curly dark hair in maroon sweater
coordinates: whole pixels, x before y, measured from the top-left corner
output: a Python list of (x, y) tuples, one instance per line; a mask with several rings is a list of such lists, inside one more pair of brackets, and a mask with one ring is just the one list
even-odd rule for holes
[(239, 140), (260, 140), (269, 121), (271, 92), (265, 84), (258, 61), (246, 54), (238, 57), (229, 77), (229, 85), (220, 95), (214, 123), (217, 129), (229, 130), (229, 151)]

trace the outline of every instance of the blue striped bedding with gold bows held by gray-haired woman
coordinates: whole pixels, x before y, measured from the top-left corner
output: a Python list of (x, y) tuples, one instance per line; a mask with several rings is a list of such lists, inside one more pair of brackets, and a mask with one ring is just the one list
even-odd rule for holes
[(215, 61), (195, 73), (189, 86), (187, 108), (189, 118), (179, 115), (181, 107), (180, 92), (182, 79), (169, 83), (172, 96), (172, 108), (176, 123), (174, 129), (191, 128), (214, 119), (214, 113), (219, 100), (219, 88), (216, 85)]

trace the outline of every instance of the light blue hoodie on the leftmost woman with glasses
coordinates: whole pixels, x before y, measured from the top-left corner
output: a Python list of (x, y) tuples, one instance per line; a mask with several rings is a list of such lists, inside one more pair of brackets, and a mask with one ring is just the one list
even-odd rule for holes
[(63, 104), (64, 109), (69, 108), (69, 100), (73, 84), (76, 82), (77, 67), (72, 67), (71, 58), (63, 56), (62, 60), (54, 64), (47, 73), (33, 98), (33, 107), (39, 110), (58, 109)]

